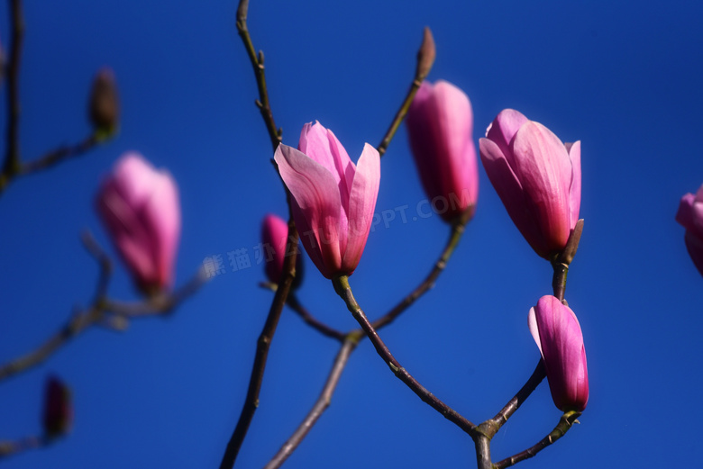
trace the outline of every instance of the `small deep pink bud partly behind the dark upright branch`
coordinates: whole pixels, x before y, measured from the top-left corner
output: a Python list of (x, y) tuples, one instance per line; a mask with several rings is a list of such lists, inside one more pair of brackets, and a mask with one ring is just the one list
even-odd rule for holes
[[(264, 217), (261, 223), (261, 242), (266, 253), (264, 270), (269, 282), (278, 284), (283, 273), (283, 261), (286, 257), (288, 241), (288, 223), (273, 214)], [(292, 287), (297, 288), (303, 281), (303, 253), (298, 252), (296, 258), (296, 278)]]

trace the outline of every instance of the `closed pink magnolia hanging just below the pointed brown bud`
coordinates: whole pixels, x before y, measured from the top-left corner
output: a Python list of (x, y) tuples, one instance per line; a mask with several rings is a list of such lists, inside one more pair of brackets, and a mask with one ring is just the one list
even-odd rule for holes
[(425, 81), (407, 111), (406, 125), (415, 166), (434, 209), (444, 221), (466, 210), (472, 216), (479, 167), (469, 97), (451, 83)]

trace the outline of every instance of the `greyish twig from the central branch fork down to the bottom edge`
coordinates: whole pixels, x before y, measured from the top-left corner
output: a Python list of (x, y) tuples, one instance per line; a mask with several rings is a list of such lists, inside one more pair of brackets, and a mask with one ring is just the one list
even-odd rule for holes
[(337, 383), (339, 383), (340, 377), (342, 376), (342, 371), (344, 371), (344, 367), (347, 365), (349, 357), (352, 355), (352, 352), (358, 344), (359, 337), (350, 336), (349, 338), (344, 339), (342, 348), (340, 348), (337, 356), (334, 358), (332, 371), (330, 371), (330, 374), (327, 377), (327, 382), (324, 383), (320, 397), (318, 397), (317, 401), (315, 401), (315, 405), (312, 410), (308, 412), (306, 419), (303, 420), (303, 423), (301, 423), (293, 435), (288, 438), (288, 441), (280, 447), (278, 453), (271, 458), (269, 464), (266, 464), (264, 469), (277, 469), (280, 467), (281, 464), (288, 459), (288, 456), (293, 454), (293, 451), (295, 451), (297, 446), (300, 445), (303, 438), (307, 436), (307, 433), (311, 428), (313, 428), (315, 422), (320, 418), (324, 410), (330, 406), (332, 395), (337, 387)]

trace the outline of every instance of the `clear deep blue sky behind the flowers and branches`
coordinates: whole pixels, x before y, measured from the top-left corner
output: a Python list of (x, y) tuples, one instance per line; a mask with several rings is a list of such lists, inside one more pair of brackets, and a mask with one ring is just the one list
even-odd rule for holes
[[(38, 346), (90, 301), (97, 269), (78, 235), (92, 230), (114, 255), (93, 197), (125, 150), (178, 180), (178, 283), (207, 256), (223, 256), (226, 272), (169, 319), (133, 321), (125, 333), (92, 329), (0, 383), (0, 438), (39, 431), (47, 374), (70, 383), (75, 398), (71, 434), (4, 461), (8, 469), (219, 464), (272, 297), (257, 287), (260, 220), (286, 213), (235, 7), (26, 2), (23, 157), (87, 134), (85, 100), (103, 65), (118, 78), (123, 119), (109, 144), (20, 179), (0, 198), (0, 362)], [(674, 215), (680, 196), (703, 183), (702, 19), (703, 6), (684, 0), (252, 1), (251, 34), (265, 51), (273, 113), (289, 145), (314, 120), (354, 159), (364, 142), (378, 144), (406, 93), (425, 25), (437, 44), (431, 79), (470, 95), (477, 142), (507, 107), (561, 140), (582, 141), (586, 222), (567, 298), (585, 336), (589, 407), (579, 426), (519, 467), (698, 464), (703, 278)], [(5, 89), (0, 102), (5, 109)], [(551, 292), (552, 274), (479, 171), (476, 217), (446, 272), (382, 332), (415, 377), (474, 422), (492, 417), (532, 373), (539, 354), (527, 311)], [(377, 211), (407, 205), (413, 215), (424, 198), (403, 128), (382, 161)], [(424, 277), (447, 233), (438, 216), (375, 228), (351, 279), (370, 317)], [(252, 266), (235, 272), (227, 253), (239, 248), (249, 249)], [(309, 259), (306, 267), (301, 300), (352, 329), (331, 284)], [(122, 266), (110, 293), (137, 298)], [(284, 311), (239, 466), (260, 467), (278, 450), (315, 401), (336, 350)], [(533, 445), (560, 416), (543, 383), (495, 437), (494, 460)], [(474, 458), (470, 438), (364, 342), (288, 467), (472, 467)]]

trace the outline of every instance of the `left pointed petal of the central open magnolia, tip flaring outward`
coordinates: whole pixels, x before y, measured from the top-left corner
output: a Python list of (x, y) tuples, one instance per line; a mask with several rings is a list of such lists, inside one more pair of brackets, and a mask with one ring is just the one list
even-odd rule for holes
[(288, 145), (278, 145), (274, 159), (280, 176), (300, 209), (294, 212), (294, 216), (297, 226), (306, 229), (300, 232), (300, 239), (308, 256), (314, 261), (316, 257), (320, 258), (328, 273), (339, 271), (342, 266), (339, 231), (341, 202), (333, 175), (312, 158)]

